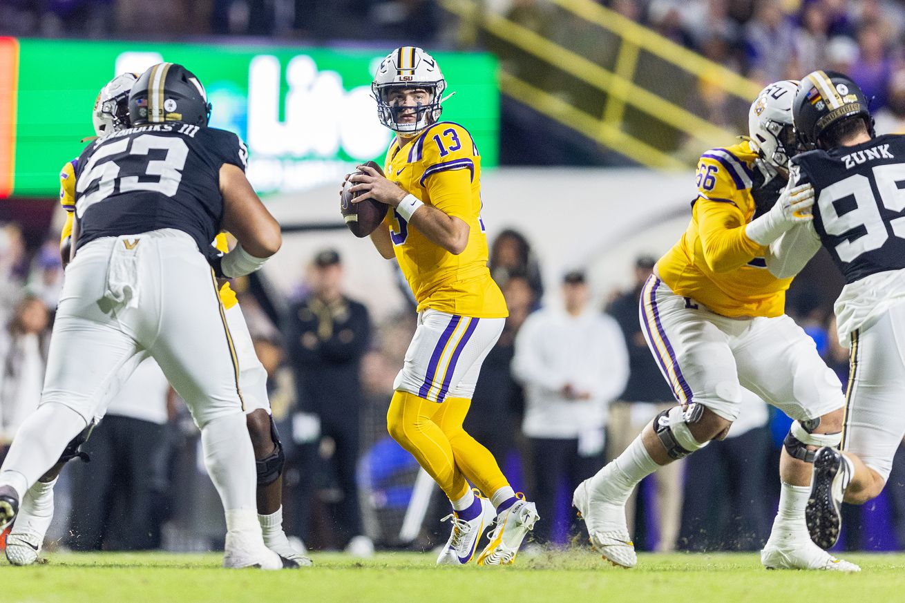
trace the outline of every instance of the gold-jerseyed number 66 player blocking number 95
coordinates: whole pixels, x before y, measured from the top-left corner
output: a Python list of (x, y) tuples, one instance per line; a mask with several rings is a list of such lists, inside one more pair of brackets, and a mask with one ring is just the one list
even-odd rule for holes
[(816, 546), (807, 531), (814, 451), (841, 441), (844, 398), (814, 341), (784, 313), (791, 279), (770, 272), (769, 245), (813, 217), (813, 189), (787, 184), (796, 91), (796, 81), (767, 86), (748, 113), (750, 138), (701, 155), (691, 222), (643, 288), (643, 333), (680, 406), (656, 416), (573, 499), (595, 549), (616, 564), (636, 563), (624, 513), (634, 486), (725, 437), (747, 388), (795, 419), (761, 562), (771, 569), (859, 570)]

